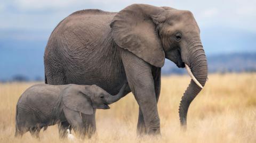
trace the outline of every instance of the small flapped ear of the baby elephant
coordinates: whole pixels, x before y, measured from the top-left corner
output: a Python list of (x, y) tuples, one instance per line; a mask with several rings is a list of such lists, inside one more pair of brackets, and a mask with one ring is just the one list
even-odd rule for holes
[(66, 88), (62, 91), (61, 96), (63, 104), (70, 110), (82, 112), (83, 114), (93, 114), (91, 100), (79, 89)]

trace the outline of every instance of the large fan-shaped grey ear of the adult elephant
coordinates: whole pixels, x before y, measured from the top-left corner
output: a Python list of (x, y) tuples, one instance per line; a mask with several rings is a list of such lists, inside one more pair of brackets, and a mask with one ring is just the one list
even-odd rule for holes
[(163, 11), (161, 7), (132, 4), (118, 12), (110, 24), (115, 43), (149, 64), (162, 67), (165, 54), (152, 17)]

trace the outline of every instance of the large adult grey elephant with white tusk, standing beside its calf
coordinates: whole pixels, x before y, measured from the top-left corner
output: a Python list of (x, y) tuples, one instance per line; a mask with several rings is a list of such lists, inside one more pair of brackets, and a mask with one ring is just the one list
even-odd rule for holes
[(44, 55), (45, 83), (98, 85), (115, 95), (124, 82), (139, 104), (139, 133), (160, 133), (157, 101), (165, 58), (190, 73), (180, 107), (188, 107), (207, 79), (199, 28), (189, 11), (132, 4), (120, 12), (77, 11), (53, 30)]

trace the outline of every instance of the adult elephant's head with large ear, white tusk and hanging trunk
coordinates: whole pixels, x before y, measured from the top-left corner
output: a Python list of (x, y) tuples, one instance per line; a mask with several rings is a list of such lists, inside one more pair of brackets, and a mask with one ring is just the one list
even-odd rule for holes
[(115, 43), (149, 64), (162, 67), (164, 59), (186, 68), (192, 80), (185, 91), (179, 115), (186, 127), (188, 107), (207, 79), (207, 61), (200, 30), (189, 11), (133, 4), (118, 12), (110, 24)]

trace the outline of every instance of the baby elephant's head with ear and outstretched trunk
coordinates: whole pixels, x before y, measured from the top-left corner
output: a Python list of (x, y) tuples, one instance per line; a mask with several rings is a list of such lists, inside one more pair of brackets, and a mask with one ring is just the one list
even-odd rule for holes
[(128, 87), (127, 83), (121, 88), (117, 95), (110, 95), (102, 88), (91, 86), (71, 86), (62, 92), (64, 105), (73, 111), (84, 114), (93, 114), (93, 109), (109, 109), (108, 104), (117, 102), (124, 96), (124, 91)]

